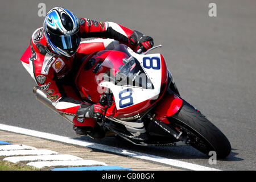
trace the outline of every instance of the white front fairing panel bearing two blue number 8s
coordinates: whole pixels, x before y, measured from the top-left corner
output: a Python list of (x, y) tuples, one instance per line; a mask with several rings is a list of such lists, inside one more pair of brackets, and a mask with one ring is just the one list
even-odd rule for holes
[(160, 54), (138, 55), (130, 48), (129, 53), (135, 57), (146, 75), (150, 78), (154, 89), (144, 89), (134, 86), (120, 86), (113, 82), (102, 81), (99, 85), (112, 90), (117, 110), (134, 106), (146, 100), (157, 99), (162, 80), (162, 63)]

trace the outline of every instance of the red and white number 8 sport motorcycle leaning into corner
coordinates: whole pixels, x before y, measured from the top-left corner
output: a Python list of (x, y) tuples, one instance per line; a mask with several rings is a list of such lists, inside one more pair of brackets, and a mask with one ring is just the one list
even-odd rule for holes
[[(75, 80), (81, 98), (106, 108), (102, 122), (97, 124), (106, 135), (114, 133), (138, 145), (190, 145), (206, 155), (215, 151), (217, 158), (228, 156), (229, 140), (180, 97), (163, 56), (147, 52), (140, 54), (120, 44), (81, 60)], [(52, 106), (39, 86), (34, 93), (68, 119)]]

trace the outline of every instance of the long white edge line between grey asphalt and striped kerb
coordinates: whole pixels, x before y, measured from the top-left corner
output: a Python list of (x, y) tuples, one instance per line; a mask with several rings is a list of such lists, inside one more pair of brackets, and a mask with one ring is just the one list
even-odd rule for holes
[(49, 133), (44, 133), (44, 132), (35, 131), (35, 130), (23, 129), (23, 128), (15, 127), (15, 126), (0, 124), (0, 130), (30, 135), (32, 137), (39, 137), (39, 138), (43, 138), (43, 139), (55, 140), (55, 141), (63, 142), (63, 143), (76, 144), (78, 146), (95, 148), (98, 150), (113, 152), (115, 154), (121, 154), (121, 155), (131, 156), (133, 158), (148, 160), (150, 162), (167, 164), (168, 166), (173, 166), (173, 167), (179, 167), (179, 168), (190, 169), (190, 170), (195, 170), (195, 171), (218, 171), (218, 169), (215, 169), (215, 168), (209, 168), (209, 167), (200, 166), (197, 164), (181, 162), (179, 160), (163, 158), (163, 157), (159, 157), (159, 156), (155, 156), (155, 155), (143, 154), (141, 152), (123, 150), (122, 148), (106, 146), (104, 144), (85, 142), (84, 140), (72, 139), (72, 138), (63, 137), (63, 136), (59, 136), (59, 135), (55, 135), (55, 134), (49, 134)]

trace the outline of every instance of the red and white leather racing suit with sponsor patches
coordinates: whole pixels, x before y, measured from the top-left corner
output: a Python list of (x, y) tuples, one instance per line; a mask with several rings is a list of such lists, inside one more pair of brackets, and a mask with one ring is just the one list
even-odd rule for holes
[[(130, 47), (129, 38), (133, 31), (113, 22), (98, 22), (92, 19), (79, 18), (81, 38), (108, 38), (87, 40), (80, 43), (72, 57), (56, 55), (47, 46), (43, 27), (38, 28), (31, 38), (30, 65), (24, 65), (36, 83), (47, 94), (52, 105), (62, 113), (73, 117), (75, 126), (94, 126), (92, 118), (80, 118), (77, 113), (83, 106), (90, 106), (82, 102), (72, 85), (67, 84), (65, 76), (71, 72), (74, 60), (80, 59), (94, 51), (113, 49), (120, 43)], [(113, 40), (114, 39), (114, 40)], [(134, 47), (133, 47), (134, 48)], [(64, 80), (64, 81), (63, 81)], [(77, 118), (77, 116), (79, 118)], [(85, 116), (86, 117), (86, 116)]]

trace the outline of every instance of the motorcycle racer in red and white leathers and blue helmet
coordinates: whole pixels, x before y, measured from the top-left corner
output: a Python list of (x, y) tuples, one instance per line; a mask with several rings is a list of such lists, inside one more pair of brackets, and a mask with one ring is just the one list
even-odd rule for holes
[[(81, 38), (98, 38), (81, 42)], [(103, 38), (103, 39), (102, 39)], [(94, 51), (114, 49), (118, 44), (147, 51), (154, 45), (150, 36), (113, 22), (77, 18), (71, 11), (54, 7), (44, 19), (43, 27), (32, 34), (30, 64), (24, 65), (36, 84), (61, 113), (73, 117), (77, 135), (102, 138), (96, 125), (105, 107), (82, 101), (75, 87), (75, 73), (80, 59)], [(89, 81), (88, 81), (89, 82)]]

